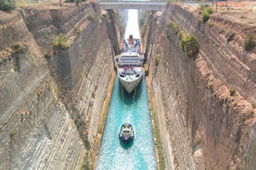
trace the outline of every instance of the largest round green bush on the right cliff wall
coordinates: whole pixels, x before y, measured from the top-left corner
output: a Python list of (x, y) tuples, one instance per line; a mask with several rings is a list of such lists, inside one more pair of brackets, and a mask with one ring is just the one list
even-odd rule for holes
[(181, 41), (181, 48), (188, 57), (198, 55), (199, 53), (198, 39), (193, 35), (187, 35)]

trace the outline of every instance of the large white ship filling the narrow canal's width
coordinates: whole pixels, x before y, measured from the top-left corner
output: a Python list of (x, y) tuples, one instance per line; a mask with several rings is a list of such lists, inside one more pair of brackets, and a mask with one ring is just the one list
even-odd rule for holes
[(134, 39), (133, 35), (128, 40), (122, 41), (122, 53), (115, 56), (117, 75), (122, 87), (131, 93), (140, 83), (144, 68), (145, 56), (141, 53), (139, 39)]

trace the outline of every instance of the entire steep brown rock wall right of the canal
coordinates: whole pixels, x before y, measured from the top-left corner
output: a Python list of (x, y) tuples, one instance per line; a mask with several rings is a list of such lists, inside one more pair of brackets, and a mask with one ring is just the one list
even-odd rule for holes
[[(167, 169), (253, 169), (255, 109), (250, 100), (255, 84), (250, 67), (234, 49), (223, 47), (225, 41), (211, 39), (214, 32), (186, 9), (172, 5), (152, 16), (149, 78)], [(184, 55), (175, 30), (167, 29), (170, 20), (198, 38), (196, 58)], [(223, 47), (221, 52), (215, 46)], [(227, 59), (230, 54), (234, 59)], [(235, 96), (229, 93), (231, 84)]]

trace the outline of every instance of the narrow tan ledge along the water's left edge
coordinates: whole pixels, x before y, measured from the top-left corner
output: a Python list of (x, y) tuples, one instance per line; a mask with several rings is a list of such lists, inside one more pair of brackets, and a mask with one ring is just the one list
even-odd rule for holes
[(108, 92), (107, 92), (107, 95), (106, 95), (106, 98), (104, 100), (102, 110), (101, 110), (99, 125), (98, 125), (98, 128), (97, 128), (95, 147), (94, 147), (94, 150), (92, 152), (92, 157), (91, 157), (91, 162), (90, 162), (90, 168), (89, 169), (96, 169), (96, 160), (97, 160), (97, 156), (98, 156), (98, 152), (99, 152), (99, 148), (100, 148), (100, 143), (101, 143), (101, 139), (102, 139), (105, 123), (106, 123), (106, 118), (107, 118), (108, 111), (109, 111), (109, 103), (110, 103), (110, 100), (111, 100), (111, 95), (112, 95), (112, 91), (113, 91), (113, 87), (114, 87), (115, 77), (116, 77), (116, 72), (112, 71), (111, 79), (110, 79), (110, 82), (109, 82), (109, 89), (108, 89)]

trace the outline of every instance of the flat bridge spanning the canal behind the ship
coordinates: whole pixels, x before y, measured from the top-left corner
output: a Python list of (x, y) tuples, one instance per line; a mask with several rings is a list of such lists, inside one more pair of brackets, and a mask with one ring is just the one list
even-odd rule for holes
[(167, 2), (151, 2), (151, 1), (109, 1), (99, 2), (103, 9), (141, 9), (163, 11), (166, 8)]

